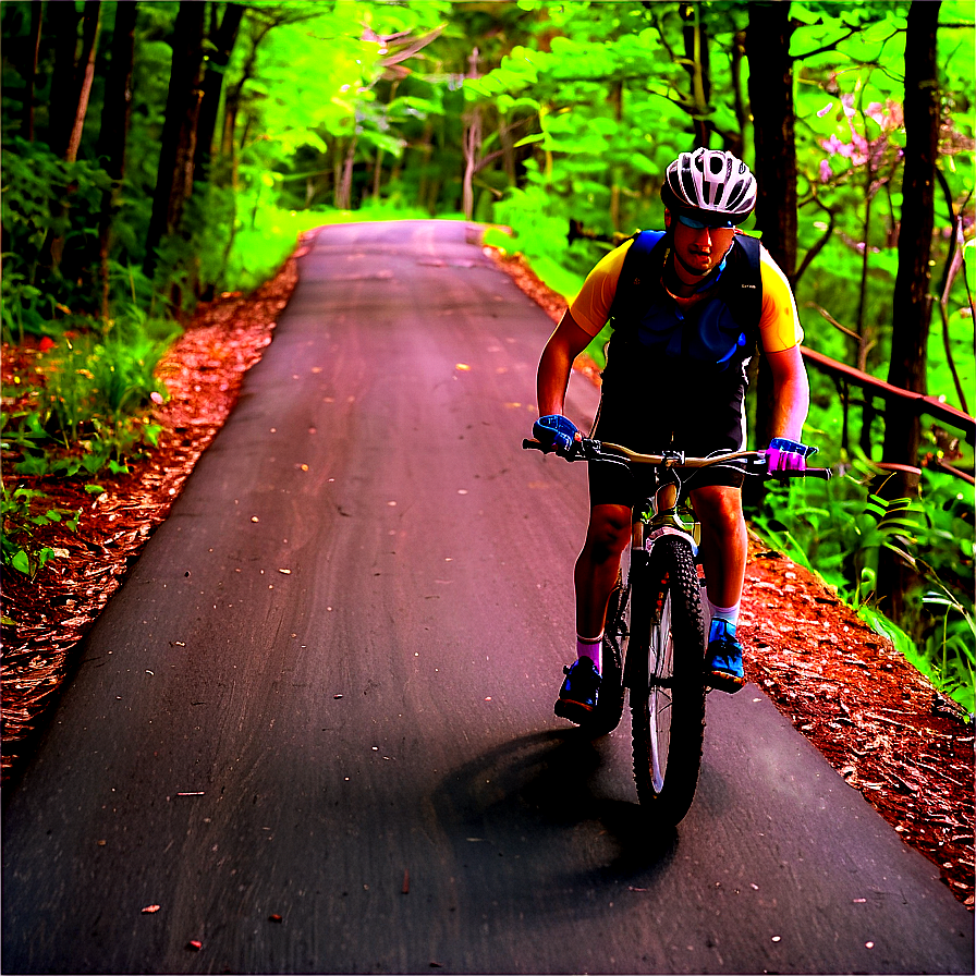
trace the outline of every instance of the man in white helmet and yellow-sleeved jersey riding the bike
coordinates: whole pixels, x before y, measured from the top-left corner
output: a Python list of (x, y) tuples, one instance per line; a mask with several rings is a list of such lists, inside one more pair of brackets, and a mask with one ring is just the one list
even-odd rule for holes
[[(745, 447), (745, 367), (758, 341), (772, 375), (771, 469), (806, 467), (816, 448), (802, 443), (809, 405), (800, 353), (803, 330), (790, 284), (765, 248), (749, 261), (751, 239), (736, 230), (756, 203), (756, 180), (731, 152), (682, 152), (661, 187), (663, 232), (632, 276), (622, 278), (632, 239), (590, 271), (542, 352), (539, 419), (533, 436), (560, 452), (581, 438), (565, 416), (573, 361), (611, 318), (621, 281), (639, 296), (612, 310), (600, 407), (593, 436), (643, 453), (673, 446), (690, 455)], [(758, 264), (758, 271), (755, 265)], [(752, 270), (751, 270), (752, 269)], [(759, 280), (761, 304), (740, 295)], [(625, 289), (620, 289), (624, 291)], [(753, 291), (755, 295), (755, 291)], [(746, 310), (758, 322), (744, 320)], [(584, 722), (597, 705), (601, 643), (620, 558), (631, 540), (635, 475), (620, 465), (589, 463), (590, 514), (576, 561), (576, 661), (564, 668), (556, 713)], [(701, 559), (711, 613), (708, 683), (734, 693), (745, 684), (736, 638), (747, 551), (741, 471), (713, 465), (695, 474), (690, 498), (701, 524)], [(644, 497), (643, 495), (640, 497)]]

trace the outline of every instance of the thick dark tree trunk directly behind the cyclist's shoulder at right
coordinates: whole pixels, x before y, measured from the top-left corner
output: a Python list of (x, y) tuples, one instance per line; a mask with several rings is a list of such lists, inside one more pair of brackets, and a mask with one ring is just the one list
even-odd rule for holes
[[(793, 132), (793, 61), (790, 4), (749, 4), (746, 50), (758, 184), (756, 229), (773, 260), (792, 282), (796, 271), (796, 144)], [(772, 435), (772, 377), (765, 356), (756, 373), (755, 442)]]

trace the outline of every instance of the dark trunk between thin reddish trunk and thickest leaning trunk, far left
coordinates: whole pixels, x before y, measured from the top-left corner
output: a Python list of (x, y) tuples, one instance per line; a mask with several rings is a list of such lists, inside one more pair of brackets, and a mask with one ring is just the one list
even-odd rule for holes
[(111, 228), (118, 210), (119, 184), (125, 174), (125, 139), (132, 117), (132, 69), (135, 58), (135, 21), (138, 4), (115, 4), (115, 25), (112, 28), (111, 61), (105, 84), (101, 127), (96, 149), (106, 173), (115, 184), (101, 198), (101, 219), (98, 227), (99, 268), (101, 273), (101, 314), (109, 315), (109, 252)]

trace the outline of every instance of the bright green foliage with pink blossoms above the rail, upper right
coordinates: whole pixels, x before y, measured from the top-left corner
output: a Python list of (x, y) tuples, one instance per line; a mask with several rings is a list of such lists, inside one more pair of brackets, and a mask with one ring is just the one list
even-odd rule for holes
[[(905, 145), (902, 119), (905, 15), (907, 3), (795, 3), (794, 16), (804, 24), (793, 35), (797, 62), (797, 193), (800, 257), (826, 241), (814, 265), (802, 277), (797, 302), (826, 309), (831, 317), (863, 337), (867, 369), (887, 374), (891, 320), (891, 294), (898, 271), (898, 229), (901, 219), (901, 152)], [(973, 23), (972, 5), (943, 3), (940, 17), (947, 24)], [(952, 215), (972, 200), (973, 89), (972, 28), (940, 28), (939, 63), (942, 73), (943, 127), (940, 185), (937, 195), (934, 285), (950, 259)], [(818, 53), (804, 57), (804, 52)], [(969, 218), (971, 219), (971, 218)], [(939, 285), (941, 288), (941, 285)], [(949, 315), (965, 309), (962, 281), (949, 295)], [(808, 319), (809, 321), (809, 319)], [(971, 319), (968, 319), (971, 321)], [(954, 331), (962, 338), (971, 326)], [(856, 341), (845, 339), (813, 317), (808, 342), (835, 358), (856, 363)], [(941, 339), (934, 342), (941, 345)], [(973, 363), (960, 350), (968, 373)], [(930, 387), (954, 390), (944, 354), (937, 353)]]

